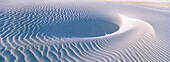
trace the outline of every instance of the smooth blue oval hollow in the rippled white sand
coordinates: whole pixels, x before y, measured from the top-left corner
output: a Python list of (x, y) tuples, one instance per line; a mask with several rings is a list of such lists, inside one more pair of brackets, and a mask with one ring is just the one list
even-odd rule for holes
[(56, 37), (98, 37), (111, 34), (119, 29), (119, 26), (100, 20), (83, 20), (77, 22), (58, 23), (44, 27), (45, 34)]

